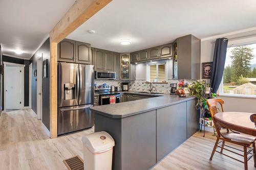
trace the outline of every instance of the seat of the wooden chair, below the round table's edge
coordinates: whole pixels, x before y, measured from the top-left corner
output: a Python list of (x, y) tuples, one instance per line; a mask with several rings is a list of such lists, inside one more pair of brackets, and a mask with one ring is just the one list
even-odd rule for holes
[(244, 133), (233, 133), (225, 132), (221, 133), (225, 138), (230, 139), (231, 141), (236, 141), (244, 144), (251, 144), (256, 139), (255, 136), (247, 135)]

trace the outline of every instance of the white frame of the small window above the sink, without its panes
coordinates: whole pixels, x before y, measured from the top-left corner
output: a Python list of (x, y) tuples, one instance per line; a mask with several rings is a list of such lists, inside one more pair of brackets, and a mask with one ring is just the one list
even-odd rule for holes
[[(146, 63), (146, 82), (150, 81), (150, 66), (157, 65), (157, 80), (158, 80), (158, 65), (164, 65), (165, 68), (165, 81), (168, 81), (168, 60), (158, 60)], [(154, 83), (163, 83), (163, 82), (154, 82)]]

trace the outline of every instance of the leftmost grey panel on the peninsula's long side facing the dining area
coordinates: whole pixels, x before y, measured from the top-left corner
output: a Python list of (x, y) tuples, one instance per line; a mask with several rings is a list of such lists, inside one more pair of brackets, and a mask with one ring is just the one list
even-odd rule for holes
[(122, 170), (156, 164), (156, 110), (122, 118)]

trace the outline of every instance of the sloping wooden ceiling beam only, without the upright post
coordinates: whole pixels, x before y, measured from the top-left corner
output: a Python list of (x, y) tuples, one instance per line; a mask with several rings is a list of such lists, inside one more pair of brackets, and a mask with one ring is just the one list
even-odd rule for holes
[(50, 33), (53, 42), (60, 42), (82, 23), (96, 14), (112, 0), (78, 0)]

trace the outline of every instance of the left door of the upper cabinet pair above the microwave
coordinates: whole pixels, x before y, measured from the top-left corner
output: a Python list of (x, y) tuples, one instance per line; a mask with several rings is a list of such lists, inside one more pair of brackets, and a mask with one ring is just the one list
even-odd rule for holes
[(95, 48), (95, 66), (94, 69), (97, 71), (104, 71), (105, 70), (105, 55), (104, 50)]

